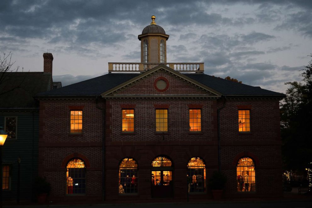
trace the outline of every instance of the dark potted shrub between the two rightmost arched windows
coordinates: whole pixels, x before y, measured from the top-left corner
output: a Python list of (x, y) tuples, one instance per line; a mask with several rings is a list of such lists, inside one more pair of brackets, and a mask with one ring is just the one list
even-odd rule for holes
[(226, 176), (220, 172), (214, 171), (212, 177), (209, 179), (208, 185), (212, 190), (212, 195), (215, 200), (222, 198), (222, 192), (226, 184)]

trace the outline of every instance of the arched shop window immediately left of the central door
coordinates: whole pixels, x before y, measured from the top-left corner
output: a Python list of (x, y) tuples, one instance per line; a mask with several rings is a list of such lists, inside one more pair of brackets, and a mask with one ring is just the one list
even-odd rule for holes
[(137, 193), (137, 163), (125, 158), (119, 165), (119, 194)]

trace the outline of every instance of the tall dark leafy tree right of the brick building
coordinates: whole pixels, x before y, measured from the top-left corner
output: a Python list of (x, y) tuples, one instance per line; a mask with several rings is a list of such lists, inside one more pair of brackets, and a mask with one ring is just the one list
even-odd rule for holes
[(312, 60), (301, 71), (302, 83), (285, 83), (290, 87), (281, 102), (282, 155), (288, 170), (304, 170), (312, 161)]

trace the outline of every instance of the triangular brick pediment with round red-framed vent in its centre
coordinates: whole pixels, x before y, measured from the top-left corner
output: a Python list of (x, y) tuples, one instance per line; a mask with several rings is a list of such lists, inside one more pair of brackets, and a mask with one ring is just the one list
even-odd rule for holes
[(220, 97), (221, 93), (165, 65), (158, 65), (101, 94), (125, 97)]

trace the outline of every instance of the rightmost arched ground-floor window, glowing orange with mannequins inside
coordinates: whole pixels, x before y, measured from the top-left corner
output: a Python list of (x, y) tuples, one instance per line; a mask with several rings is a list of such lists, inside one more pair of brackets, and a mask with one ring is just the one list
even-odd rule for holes
[(256, 191), (253, 159), (242, 157), (237, 162), (237, 191)]

